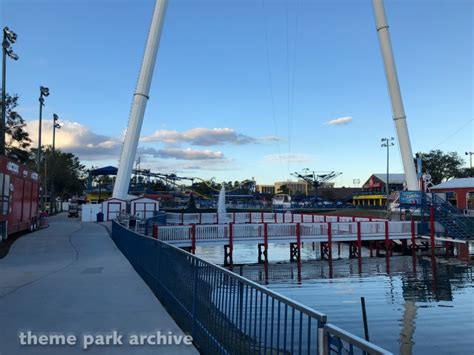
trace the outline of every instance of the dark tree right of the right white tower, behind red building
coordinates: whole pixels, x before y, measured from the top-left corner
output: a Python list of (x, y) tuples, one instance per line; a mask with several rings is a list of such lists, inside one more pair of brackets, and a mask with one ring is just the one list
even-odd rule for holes
[(431, 182), (434, 185), (459, 177), (463, 165), (463, 159), (456, 152), (443, 153), (441, 150), (431, 150), (422, 154), (422, 170), (431, 175)]

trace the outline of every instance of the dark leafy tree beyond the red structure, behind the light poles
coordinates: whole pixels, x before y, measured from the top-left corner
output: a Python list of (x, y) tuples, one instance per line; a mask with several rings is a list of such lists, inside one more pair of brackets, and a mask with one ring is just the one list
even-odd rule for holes
[(84, 192), (86, 170), (79, 158), (72, 153), (56, 149), (53, 156), (51, 147), (46, 147), (42, 153), (40, 175), (43, 184), (46, 182), (48, 192), (54, 186), (56, 197), (68, 199)]

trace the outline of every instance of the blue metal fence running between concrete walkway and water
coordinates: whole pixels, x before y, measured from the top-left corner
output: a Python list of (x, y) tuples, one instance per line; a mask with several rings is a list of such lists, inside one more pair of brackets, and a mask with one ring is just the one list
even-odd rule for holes
[(112, 238), (203, 354), (389, 354), (322, 313), (115, 221)]

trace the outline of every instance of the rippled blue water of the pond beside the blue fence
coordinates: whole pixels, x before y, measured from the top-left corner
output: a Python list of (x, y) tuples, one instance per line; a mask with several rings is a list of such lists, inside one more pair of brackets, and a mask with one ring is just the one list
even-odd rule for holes
[[(198, 255), (215, 263), (222, 250)], [(338, 256), (334, 245), (333, 255)], [(368, 255), (366, 250), (363, 255)], [(363, 337), (360, 297), (365, 297), (370, 340), (393, 353), (472, 354), (474, 282), (472, 266), (455, 259), (394, 256), (347, 258), (342, 245), (332, 268), (305, 245), (300, 267), (289, 263), (287, 245), (270, 245), (267, 266), (254, 264), (255, 245), (234, 246), (234, 272), (326, 313), (330, 323)], [(332, 277), (331, 277), (332, 276)]]

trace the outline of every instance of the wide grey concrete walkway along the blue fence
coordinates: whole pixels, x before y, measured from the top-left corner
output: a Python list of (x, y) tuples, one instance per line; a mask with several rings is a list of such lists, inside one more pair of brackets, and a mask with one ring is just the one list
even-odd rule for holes
[[(48, 342), (51, 334), (77, 340), (21, 345), (19, 334), (27, 331)], [(123, 345), (98, 345), (113, 331)], [(192, 345), (129, 344), (132, 335), (158, 331), (183, 335), (102, 225), (53, 217), (49, 228), (19, 238), (0, 259), (1, 355), (198, 353)], [(99, 343), (83, 350), (84, 336), (99, 336)]]

